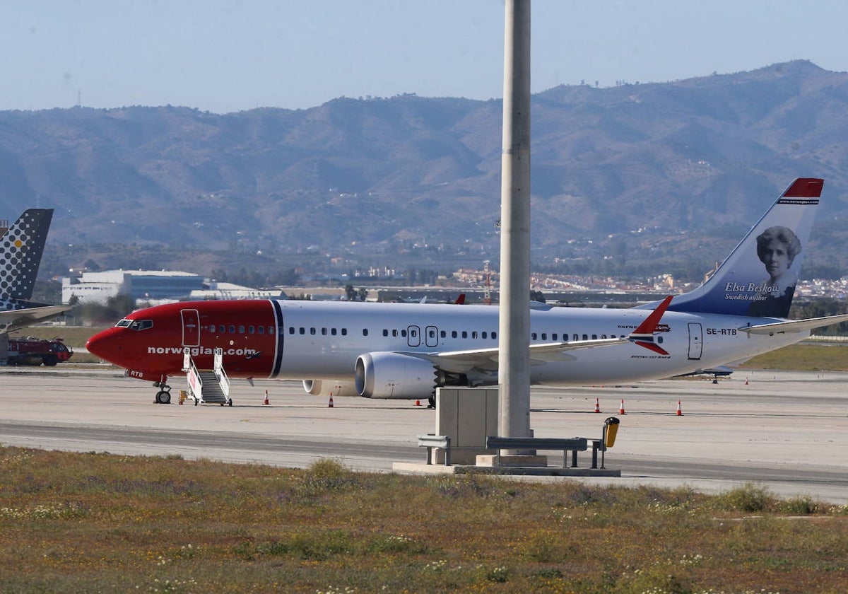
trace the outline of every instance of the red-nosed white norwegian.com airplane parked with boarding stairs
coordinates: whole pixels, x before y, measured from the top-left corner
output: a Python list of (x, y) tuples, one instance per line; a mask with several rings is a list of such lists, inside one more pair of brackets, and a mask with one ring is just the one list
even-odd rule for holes
[[(848, 315), (785, 319), (823, 180), (798, 178), (699, 288), (629, 309), (530, 303), (532, 384), (670, 378), (806, 339)], [(183, 355), (230, 378), (303, 380), (312, 395), (435, 402), (440, 386), (498, 384), (499, 308), (303, 300), (222, 300), (134, 311), (87, 348), (153, 381)], [(232, 401), (231, 401), (232, 405)]]

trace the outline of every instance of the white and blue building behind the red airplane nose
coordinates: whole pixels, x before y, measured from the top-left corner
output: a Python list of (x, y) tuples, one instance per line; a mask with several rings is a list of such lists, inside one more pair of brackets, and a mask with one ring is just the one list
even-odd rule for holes
[(190, 272), (110, 270), (83, 272), (81, 277), (62, 278), (62, 303), (72, 298), (81, 303), (105, 304), (110, 297), (128, 294), (139, 300), (187, 299), (204, 289), (204, 277)]

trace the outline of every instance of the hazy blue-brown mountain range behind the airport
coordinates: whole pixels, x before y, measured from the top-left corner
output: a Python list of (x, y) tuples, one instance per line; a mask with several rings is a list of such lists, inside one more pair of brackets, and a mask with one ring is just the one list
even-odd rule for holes
[[(121, 245), (496, 263), (501, 109), (404, 94), (230, 114), (2, 111), (0, 214), (56, 209), (49, 241), (103, 267), (120, 251), (103, 246)], [(810, 258), (848, 264), (848, 73), (797, 60), (560, 86), (532, 110), (535, 262), (721, 259), (795, 177), (824, 177)]]

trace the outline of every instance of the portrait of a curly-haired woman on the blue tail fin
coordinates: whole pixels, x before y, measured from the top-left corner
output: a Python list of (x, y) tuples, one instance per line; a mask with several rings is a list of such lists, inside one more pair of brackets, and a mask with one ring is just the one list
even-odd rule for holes
[(768, 280), (748, 308), (749, 316), (787, 317), (797, 274), (792, 270), (801, 241), (789, 227), (768, 227), (756, 238), (756, 255), (768, 272)]

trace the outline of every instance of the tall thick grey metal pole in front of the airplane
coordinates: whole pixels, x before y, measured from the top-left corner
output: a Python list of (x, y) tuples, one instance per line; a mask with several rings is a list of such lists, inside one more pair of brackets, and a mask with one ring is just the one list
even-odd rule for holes
[(530, 0), (506, 0), (501, 156), (499, 415), (530, 436)]

